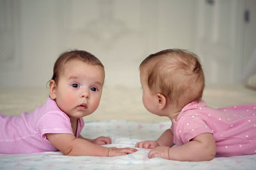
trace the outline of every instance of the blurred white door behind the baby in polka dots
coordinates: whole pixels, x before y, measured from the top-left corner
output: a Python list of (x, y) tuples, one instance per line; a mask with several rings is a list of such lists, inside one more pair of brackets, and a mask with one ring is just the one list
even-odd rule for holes
[(205, 81), (235, 83), (243, 67), (244, 1), (199, 0), (195, 51)]

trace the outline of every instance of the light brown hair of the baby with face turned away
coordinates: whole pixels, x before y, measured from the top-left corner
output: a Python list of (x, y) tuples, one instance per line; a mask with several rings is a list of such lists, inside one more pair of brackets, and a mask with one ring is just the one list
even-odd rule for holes
[(149, 55), (140, 64), (140, 76), (152, 94), (163, 94), (166, 104), (175, 104), (177, 108), (200, 99), (205, 85), (198, 57), (181, 49)]

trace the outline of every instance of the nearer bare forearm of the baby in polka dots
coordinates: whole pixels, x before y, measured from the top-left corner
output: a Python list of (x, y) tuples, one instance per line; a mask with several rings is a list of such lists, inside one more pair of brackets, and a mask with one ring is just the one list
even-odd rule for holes
[(216, 143), (213, 135), (204, 133), (184, 145), (172, 148), (166, 146), (154, 148), (148, 153), (148, 157), (162, 157), (180, 161), (204, 161), (213, 159), (215, 154)]

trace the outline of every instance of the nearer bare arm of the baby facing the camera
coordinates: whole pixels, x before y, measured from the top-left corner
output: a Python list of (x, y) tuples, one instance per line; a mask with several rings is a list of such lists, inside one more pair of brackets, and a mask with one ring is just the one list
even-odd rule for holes
[(134, 148), (106, 148), (95, 145), (86, 139), (76, 138), (73, 134), (45, 135), (52, 145), (58, 148), (64, 155), (113, 157), (127, 155), (137, 151)]

